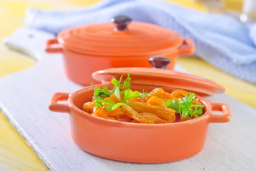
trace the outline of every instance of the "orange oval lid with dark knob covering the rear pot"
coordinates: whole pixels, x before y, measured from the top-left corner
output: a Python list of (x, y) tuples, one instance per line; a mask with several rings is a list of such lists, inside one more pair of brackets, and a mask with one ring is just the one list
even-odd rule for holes
[(93, 23), (61, 31), (58, 42), (68, 50), (104, 56), (157, 55), (177, 49), (180, 34), (151, 23), (117, 16), (108, 23)]

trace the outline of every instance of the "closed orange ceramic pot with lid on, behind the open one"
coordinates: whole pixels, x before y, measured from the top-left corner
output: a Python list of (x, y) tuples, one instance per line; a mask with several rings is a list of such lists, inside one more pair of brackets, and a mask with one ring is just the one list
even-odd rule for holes
[[(112, 22), (77, 26), (61, 31), (48, 40), (48, 53), (62, 53), (65, 74), (70, 80), (90, 85), (99, 83), (91, 78), (94, 71), (106, 68), (151, 67), (150, 57), (171, 60), (173, 69), (178, 55), (195, 51), (191, 39), (183, 39), (175, 31), (151, 24), (131, 22), (126, 16)], [(52, 45), (58, 45), (53, 47)]]

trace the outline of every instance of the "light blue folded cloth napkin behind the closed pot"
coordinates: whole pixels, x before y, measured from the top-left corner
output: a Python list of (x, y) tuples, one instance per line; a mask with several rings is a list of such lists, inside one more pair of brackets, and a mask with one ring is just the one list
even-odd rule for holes
[[(172, 29), (195, 42), (207, 63), (256, 84), (256, 24), (250, 27), (221, 14), (209, 14), (160, 0), (104, 0), (70, 11), (28, 9), (26, 26), (58, 34), (73, 26), (108, 22), (117, 15)], [(193, 64), (191, 64), (193, 65)]]

